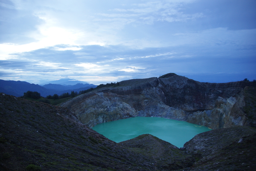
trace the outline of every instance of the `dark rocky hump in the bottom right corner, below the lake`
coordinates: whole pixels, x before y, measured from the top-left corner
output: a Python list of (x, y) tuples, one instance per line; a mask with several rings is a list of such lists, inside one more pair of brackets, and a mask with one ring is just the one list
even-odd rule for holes
[(181, 149), (195, 158), (193, 171), (254, 171), (255, 141), (255, 128), (237, 126), (198, 134)]

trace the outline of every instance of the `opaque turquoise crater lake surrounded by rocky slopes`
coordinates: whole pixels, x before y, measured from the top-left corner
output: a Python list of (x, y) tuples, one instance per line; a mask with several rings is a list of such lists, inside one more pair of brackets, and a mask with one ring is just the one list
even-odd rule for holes
[(114, 142), (130, 140), (142, 134), (151, 134), (180, 148), (196, 134), (211, 129), (161, 117), (131, 117), (98, 124), (93, 127), (93, 130)]

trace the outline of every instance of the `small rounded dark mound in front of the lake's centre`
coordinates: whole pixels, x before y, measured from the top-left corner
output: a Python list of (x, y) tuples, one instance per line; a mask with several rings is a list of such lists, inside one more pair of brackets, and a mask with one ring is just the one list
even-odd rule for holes
[(154, 167), (161, 171), (189, 168), (195, 162), (192, 155), (150, 134), (119, 142), (119, 145), (152, 158)]

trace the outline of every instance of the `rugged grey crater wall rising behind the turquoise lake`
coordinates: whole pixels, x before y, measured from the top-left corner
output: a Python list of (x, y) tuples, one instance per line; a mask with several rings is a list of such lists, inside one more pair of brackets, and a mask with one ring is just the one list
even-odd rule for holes
[[(209, 128), (251, 125), (256, 120), (244, 111), (256, 82), (200, 83), (177, 74), (126, 80), (119, 86), (97, 89), (63, 103), (82, 123), (99, 123), (128, 117), (164, 117)], [(246, 93), (244, 88), (250, 89)], [(256, 100), (256, 96), (251, 97)], [(252, 106), (254, 110), (255, 105)]]

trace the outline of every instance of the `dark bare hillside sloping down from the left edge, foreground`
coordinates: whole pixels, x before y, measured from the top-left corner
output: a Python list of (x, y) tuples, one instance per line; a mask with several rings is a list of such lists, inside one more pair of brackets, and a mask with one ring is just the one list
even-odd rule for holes
[(153, 159), (87, 128), (65, 108), (0, 94), (0, 170), (153, 170)]

